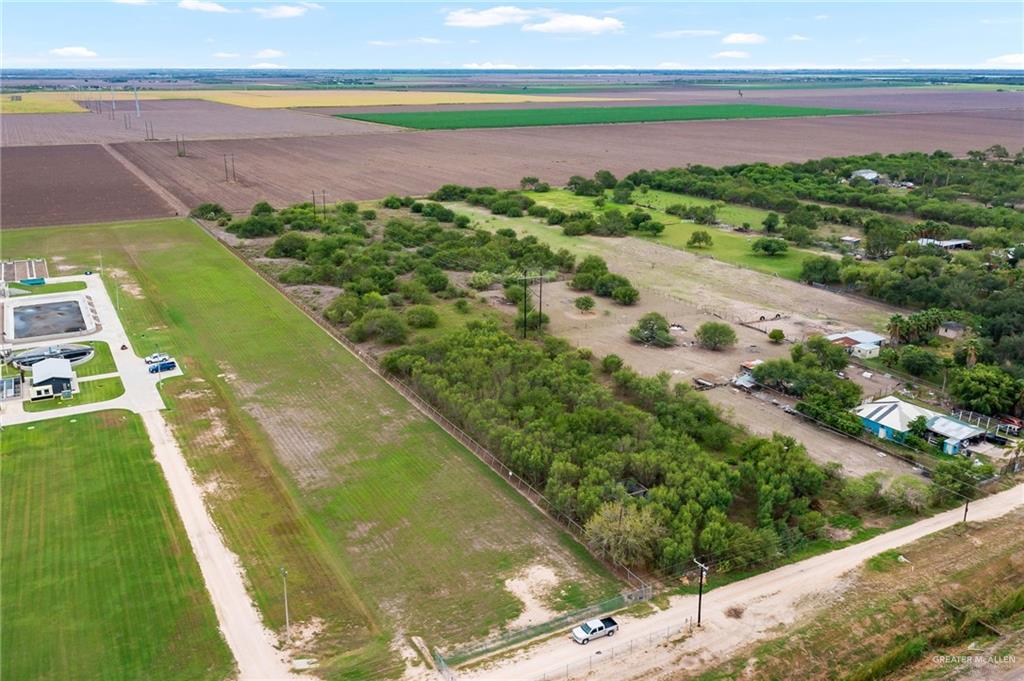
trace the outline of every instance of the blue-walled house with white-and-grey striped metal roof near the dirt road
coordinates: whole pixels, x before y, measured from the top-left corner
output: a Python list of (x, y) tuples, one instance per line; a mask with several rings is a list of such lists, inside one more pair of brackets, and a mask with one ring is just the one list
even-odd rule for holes
[(925, 419), (930, 441), (941, 441), (944, 454), (959, 454), (970, 444), (983, 439), (985, 431), (938, 412), (903, 401), (899, 397), (883, 397), (864, 402), (853, 410), (864, 428), (882, 439), (902, 442), (910, 432), (910, 424)]

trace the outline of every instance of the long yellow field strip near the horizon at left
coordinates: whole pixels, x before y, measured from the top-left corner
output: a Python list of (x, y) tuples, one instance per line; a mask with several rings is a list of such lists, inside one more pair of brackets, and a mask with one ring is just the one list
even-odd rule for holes
[[(130, 91), (117, 91), (119, 101), (134, 101)], [(359, 107), (401, 104), (456, 104), (512, 101), (599, 101), (602, 97), (532, 94), (486, 94), (481, 92), (417, 92), (414, 90), (140, 90), (138, 98), (205, 99), (250, 109), (287, 109), (292, 107)], [(22, 99), (5, 98), (4, 114), (85, 113), (97, 101), (110, 102), (109, 92), (29, 92)]]

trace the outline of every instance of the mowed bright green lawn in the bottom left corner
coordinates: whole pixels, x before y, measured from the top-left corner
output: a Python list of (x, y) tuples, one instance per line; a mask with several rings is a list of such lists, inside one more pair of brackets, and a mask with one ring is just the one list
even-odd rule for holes
[(234, 663), (141, 420), (4, 428), (0, 676), (224, 679)]

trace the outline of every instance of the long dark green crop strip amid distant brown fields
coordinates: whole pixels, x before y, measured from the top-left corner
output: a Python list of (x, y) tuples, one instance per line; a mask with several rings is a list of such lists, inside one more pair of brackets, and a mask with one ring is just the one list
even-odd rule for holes
[(771, 104), (693, 104), (685, 107), (571, 107), (565, 109), (485, 109), (454, 112), (398, 114), (344, 114), (372, 123), (419, 130), (459, 128), (517, 128), (542, 125), (592, 125), (602, 123), (656, 123), (741, 118), (795, 118), (800, 116), (855, 116), (869, 112), (853, 109), (776, 107)]

